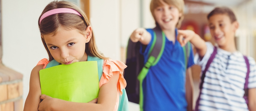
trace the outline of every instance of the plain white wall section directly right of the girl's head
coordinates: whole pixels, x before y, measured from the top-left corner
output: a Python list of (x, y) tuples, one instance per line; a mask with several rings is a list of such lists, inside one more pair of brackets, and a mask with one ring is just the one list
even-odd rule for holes
[(114, 60), (120, 60), (119, 8), (119, 0), (90, 0), (90, 23), (98, 49)]

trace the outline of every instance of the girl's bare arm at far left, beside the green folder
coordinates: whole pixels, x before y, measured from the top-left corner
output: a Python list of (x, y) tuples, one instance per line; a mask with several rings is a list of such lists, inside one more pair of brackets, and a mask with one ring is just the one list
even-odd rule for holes
[(39, 70), (43, 67), (44, 65), (37, 65), (31, 71), (29, 93), (25, 101), (24, 111), (38, 111), (41, 96)]

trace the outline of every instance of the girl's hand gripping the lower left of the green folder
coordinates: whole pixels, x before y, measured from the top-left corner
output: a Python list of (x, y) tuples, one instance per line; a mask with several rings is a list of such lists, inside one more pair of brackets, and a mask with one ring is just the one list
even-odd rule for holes
[(53, 110), (53, 106), (54, 106), (54, 102), (56, 98), (52, 98), (48, 95), (41, 95), (40, 99), (42, 100), (39, 103), (39, 107), (38, 110), (39, 111), (52, 111)]

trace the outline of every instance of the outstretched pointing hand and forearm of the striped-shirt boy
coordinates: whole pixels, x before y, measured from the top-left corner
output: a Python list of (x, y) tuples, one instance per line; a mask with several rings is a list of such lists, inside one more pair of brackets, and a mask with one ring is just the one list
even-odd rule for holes
[(178, 30), (178, 33), (177, 40), (181, 46), (185, 46), (190, 41), (195, 46), (199, 56), (203, 58), (207, 49), (205, 41), (192, 30)]

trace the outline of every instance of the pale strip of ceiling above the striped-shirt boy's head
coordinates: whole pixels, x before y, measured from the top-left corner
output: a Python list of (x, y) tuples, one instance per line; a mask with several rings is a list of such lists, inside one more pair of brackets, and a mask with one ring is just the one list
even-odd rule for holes
[(237, 6), (241, 3), (244, 3), (249, 0), (184, 0), (185, 2), (195, 2), (206, 5), (214, 5), (214, 6)]

